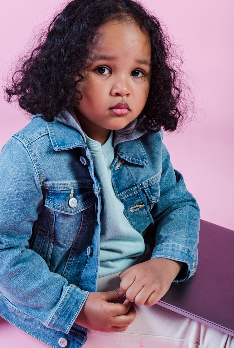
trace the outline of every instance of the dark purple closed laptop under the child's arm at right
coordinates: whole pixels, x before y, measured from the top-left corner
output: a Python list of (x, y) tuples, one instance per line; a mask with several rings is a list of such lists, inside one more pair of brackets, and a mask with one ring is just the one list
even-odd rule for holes
[(199, 239), (197, 271), (157, 304), (234, 336), (234, 231), (201, 220)]

